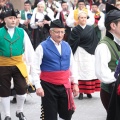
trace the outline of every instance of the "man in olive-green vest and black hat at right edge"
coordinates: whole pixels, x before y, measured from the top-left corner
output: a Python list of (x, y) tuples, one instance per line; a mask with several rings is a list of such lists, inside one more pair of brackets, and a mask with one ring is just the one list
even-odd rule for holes
[(96, 76), (101, 80), (101, 101), (108, 111), (113, 83), (116, 81), (114, 71), (120, 56), (120, 11), (108, 3), (106, 4), (105, 27), (107, 30), (106, 36), (96, 48), (95, 67)]

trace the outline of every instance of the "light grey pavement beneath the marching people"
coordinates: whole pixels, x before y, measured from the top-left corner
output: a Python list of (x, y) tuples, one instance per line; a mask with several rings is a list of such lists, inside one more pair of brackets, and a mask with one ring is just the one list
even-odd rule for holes
[[(105, 120), (106, 111), (104, 110), (99, 92), (92, 94), (93, 98), (88, 99), (84, 95), (83, 100), (78, 100), (75, 98), (76, 111), (73, 115), (72, 120)], [(40, 120), (40, 97), (36, 94), (31, 94), (27, 96), (27, 101), (24, 105), (24, 114), (27, 120)], [(0, 111), (2, 113), (2, 120), (4, 120), (4, 113), (0, 102)], [(18, 120), (15, 117), (16, 104), (11, 104), (11, 116), (12, 120)]]

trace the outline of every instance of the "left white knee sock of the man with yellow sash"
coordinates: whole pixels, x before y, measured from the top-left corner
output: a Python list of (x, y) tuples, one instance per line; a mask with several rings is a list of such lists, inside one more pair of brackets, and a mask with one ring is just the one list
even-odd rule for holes
[(1, 102), (5, 112), (5, 116), (10, 117), (10, 97), (1, 97)]

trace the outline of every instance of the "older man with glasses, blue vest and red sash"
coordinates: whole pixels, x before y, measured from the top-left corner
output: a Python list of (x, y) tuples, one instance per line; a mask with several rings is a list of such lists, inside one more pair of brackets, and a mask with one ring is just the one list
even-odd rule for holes
[(56, 19), (51, 22), (50, 37), (36, 48), (32, 76), (36, 93), (42, 97), (41, 119), (44, 120), (57, 120), (57, 114), (61, 120), (71, 120), (75, 110), (70, 81), (76, 96), (77, 72), (70, 46), (62, 41), (64, 34), (63, 23)]

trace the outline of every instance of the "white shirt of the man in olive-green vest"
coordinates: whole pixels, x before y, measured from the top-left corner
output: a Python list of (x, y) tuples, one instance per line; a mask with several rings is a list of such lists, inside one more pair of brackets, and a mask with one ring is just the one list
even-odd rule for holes
[[(120, 45), (120, 40), (114, 38), (114, 41)], [(114, 71), (108, 67), (108, 63), (111, 61), (111, 53), (108, 46), (105, 43), (101, 43), (95, 50), (95, 72), (98, 79), (106, 84), (114, 82)]]

